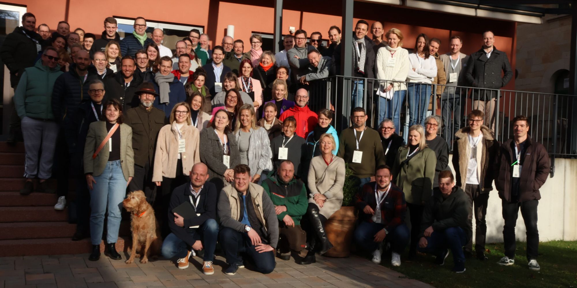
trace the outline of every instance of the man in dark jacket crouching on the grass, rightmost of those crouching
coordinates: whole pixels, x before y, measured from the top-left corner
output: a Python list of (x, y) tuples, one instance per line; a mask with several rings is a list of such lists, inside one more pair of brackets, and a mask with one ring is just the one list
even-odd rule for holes
[(436, 264), (445, 264), (449, 251), (453, 253), (453, 271), (465, 271), (463, 246), (467, 235), (471, 235), (470, 213), (467, 195), (455, 186), (453, 173), (444, 170), (439, 173), (439, 187), (434, 188), (433, 197), (425, 204), (419, 234), (421, 252), (437, 256)]

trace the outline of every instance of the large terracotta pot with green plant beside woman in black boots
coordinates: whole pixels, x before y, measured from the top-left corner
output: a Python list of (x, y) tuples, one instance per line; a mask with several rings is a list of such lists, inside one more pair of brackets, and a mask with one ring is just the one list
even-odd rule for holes
[(360, 184), (361, 181), (358, 177), (353, 176), (353, 172), (347, 164), (343, 186), (343, 205), (325, 223), (325, 231), (334, 247), (325, 253), (324, 256), (349, 257), (355, 223), (357, 222), (353, 197), (357, 193)]

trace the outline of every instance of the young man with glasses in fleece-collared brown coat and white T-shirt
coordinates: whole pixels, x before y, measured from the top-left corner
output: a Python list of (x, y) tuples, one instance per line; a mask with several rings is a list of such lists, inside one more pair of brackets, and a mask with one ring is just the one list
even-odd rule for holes
[[(477, 259), (484, 261), (485, 237), (487, 223), (487, 205), (489, 191), (493, 190), (494, 170), (490, 163), (497, 160), (499, 142), (495, 140), (489, 127), (483, 125), (483, 112), (473, 110), (468, 116), (469, 126), (455, 133), (453, 145), (453, 167), (455, 168), (456, 184), (463, 187), (469, 198), (469, 206), (475, 213), (475, 252)], [(467, 219), (473, 225), (473, 212)], [(473, 255), (473, 234), (467, 236), (469, 242), (465, 245), (465, 256)]]

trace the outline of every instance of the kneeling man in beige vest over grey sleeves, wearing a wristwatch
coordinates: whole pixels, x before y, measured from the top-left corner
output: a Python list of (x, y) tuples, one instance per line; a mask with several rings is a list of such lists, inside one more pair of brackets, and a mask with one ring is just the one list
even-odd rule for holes
[(244, 252), (256, 271), (268, 274), (275, 269), (274, 250), (279, 241), (279, 225), (275, 206), (263, 187), (250, 182), (250, 168), (239, 164), (234, 168), (234, 183), (224, 187), (218, 198), (220, 245), (227, 275), (243, 267), (238, 253)]

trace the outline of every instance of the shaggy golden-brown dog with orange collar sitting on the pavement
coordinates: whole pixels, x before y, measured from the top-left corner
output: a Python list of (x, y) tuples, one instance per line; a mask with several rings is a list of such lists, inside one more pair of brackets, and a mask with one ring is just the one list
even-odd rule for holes
[(132, 231), (132, 252), (126, 264), (134, 262), (136, 252), (141, 252), (140, 263), (147, 263), (148, 257), (160, 255), (162, 237), (152, 206), (148, 204), (143, 191), (133, 191), (122, 201), (122, 206), (130, 212)]

